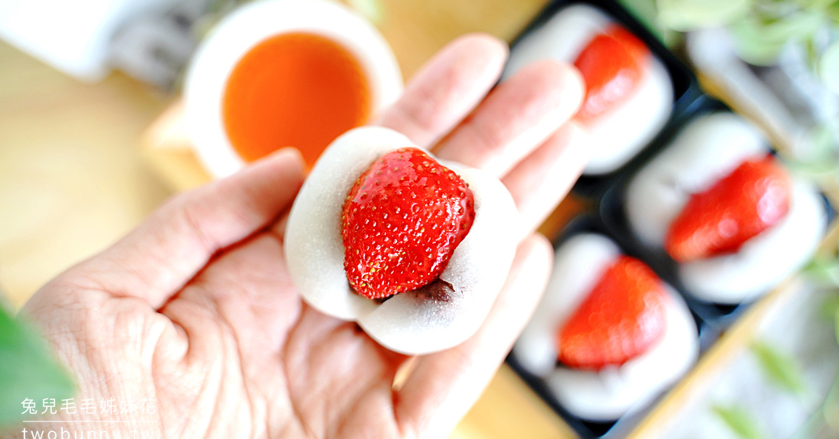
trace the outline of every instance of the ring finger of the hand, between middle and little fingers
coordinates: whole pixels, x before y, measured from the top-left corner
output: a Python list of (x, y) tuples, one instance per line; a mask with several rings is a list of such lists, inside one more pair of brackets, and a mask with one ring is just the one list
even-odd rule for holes
[(590, 154), (587, 138), (581, 125), (566, 123), (504, 175), (525, 235), (545, 221), (582, 174)]

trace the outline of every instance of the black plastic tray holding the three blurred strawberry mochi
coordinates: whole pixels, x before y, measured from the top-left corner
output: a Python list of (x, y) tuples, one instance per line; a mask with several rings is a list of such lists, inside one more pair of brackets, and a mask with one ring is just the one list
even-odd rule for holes
[[(675, 261), (663, 249), (649, 248), (635, 237), (635, 234), (628, 226), (628, 221), (624, 214), (623, 197), (629, 180), (633, 178), (638, 170), (649, 163), (650, 159), (653, 159), (655, 155), (667, 148), (675, 136), (685, 127), (686, 123), (709, 112), (732, 110), (724, 103), (708, 97), (701, 91), (696, 81), (696, 76), (694, 76), (690, 69), (667, 50), (658, 39), (654, 38), (644, 28), (643, 24), (640, 24), (620, 4), (612, 0), (552, 1), (513, 40), (511, 50), (515, 50), (515, 46), (519, 40), (523, 39), (530, 32), (533, 32), (534, 29), (539, 29), (555, 13), (559, 13), (562, 8), (578, 3), (588, 4), (601, 9), (648, 45), (649, 50), (662, 61), (670, 73), (670, 79), (674, 87), (673, 111), (659, 133), (633, 159), (629, 160), (627, 164), (611, 173), (597, 176), (584, 176), (576, 182), (572, 191), (576, 196), (581, 196), (591, 201), (595, 212), (576, 217), (557, 236), (548, 238), (551, 238), (556, 248), (561, 243), (564, 243), (567, 238), (577, 233), (601, 233), (617, 243), (623, 253), (643, 260), (664, 282), (672, 286), (684, 298), (699, 329), (701, 356), (708, 348), (711, 348), (722, 332), (725, 332), (727, 327), (731, 326), (732, 322), (736, 321), (742, 315), (743, 311), (748, 309), (751, 302), (743, 302), (734, 306), (719, 305), (707, 301), (700, 301), (690, 295), (680, 282), (678, 265)], [(831, 206), (831, 203), (827, 201), (827, 197), (824, 197), (824, 200), (826, 211), (828, 212), (827, 219), (830, 223), (836, 219), (836, 208)], [(658, 401), (654, 401), (647, 409), (640, 410), (633, 415), (625, 415), (615, 422), (586, 421), (575, 415), (571, 415), (571, 413), (565, 410), (552, 395), (547, 385), (539, 377), (529, 374), (524, 370), (517, 362), (513, 353), (508, 356), (507, 363), (583, 439), (599, 438), (604, 435), (619, 437), (626, 431), (631, 430), (658, 403)]]

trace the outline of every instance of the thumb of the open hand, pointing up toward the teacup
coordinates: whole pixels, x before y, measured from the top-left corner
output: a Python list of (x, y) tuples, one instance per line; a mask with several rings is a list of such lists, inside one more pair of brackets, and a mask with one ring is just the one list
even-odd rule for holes
[(294, 200), (300, 153), (281, 149), (237, 175), (167, 202), (128, 236), (70, 270), (66, 279), (158, 308), (221, 248), (265, 227)]

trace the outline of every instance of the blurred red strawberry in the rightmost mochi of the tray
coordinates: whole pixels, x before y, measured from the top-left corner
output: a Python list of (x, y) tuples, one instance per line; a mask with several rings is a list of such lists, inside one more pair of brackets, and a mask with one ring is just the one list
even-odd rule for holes
[(736, 252), (789, 211), (789, 180), (773, 157), (744, 161), (690, 196), (670, 224), (664, 248), (678, 262)]

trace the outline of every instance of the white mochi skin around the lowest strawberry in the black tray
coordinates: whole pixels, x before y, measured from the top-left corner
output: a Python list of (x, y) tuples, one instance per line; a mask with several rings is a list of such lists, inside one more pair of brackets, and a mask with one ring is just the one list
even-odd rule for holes
[(545, 297), (513, 348), (519, 363), (545, 379), (565, 409), (592, 421), (615, 420), (649, 404), (699, 355), (696, 323), (685, 302), (667, 286), (664, 337), (646, 353), (600, 371), (555, 366), (559, 328), (620, 254), (615, 243), (597, 234), (580, 234), (564, 243), (556, 253)]

